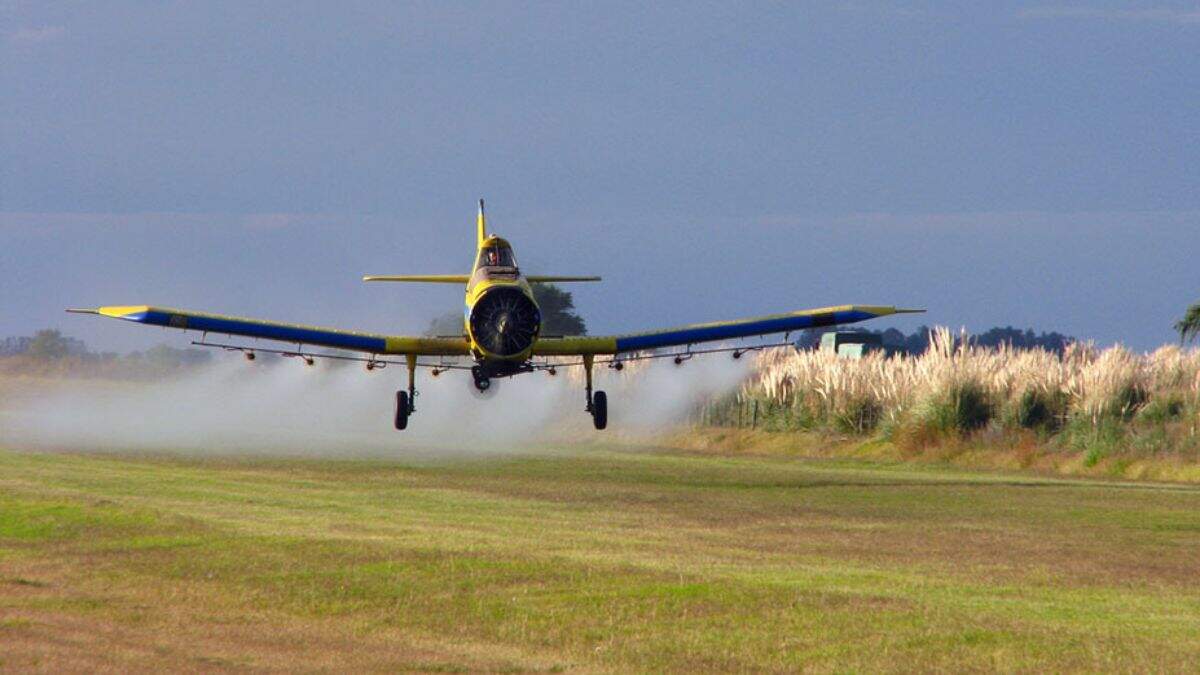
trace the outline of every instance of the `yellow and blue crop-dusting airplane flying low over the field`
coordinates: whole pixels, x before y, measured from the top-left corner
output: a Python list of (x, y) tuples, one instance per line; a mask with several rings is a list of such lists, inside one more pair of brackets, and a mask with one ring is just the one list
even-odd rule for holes
[[(558, 368), (583, 366), (584, 412), (592, 416), (596, 429), (608, 424), (608, 396), (605, 392), (593, 392), (593, 369), (596, 363), (620, 370), (625, 362), (643, 358), (673, 358), (676, 364), (695, 354), (732, 352), (739, 358), (748, 351), (766, 347), (788, 346), (790, 342), (692, 350), (702, 342), (718, 342), (750, 336), (787, 334), (805, 328), (820, 328), (856, 323), (894, 313), (912, 313), (924, 310), (898, 309), (880, 305), (839, 305), (815, 310), (800, 310), (737, 321), (696, 323), (632, 333), (626, 335), (545, 335), (542, 317), (534, 299), (532, 285), (575, 281), (600, 281), (599, 276), (544, 276), (526, 275), (517, 267), (512, 245), (496, 234), (487, 233), (484, 201), (479, 201), (475, 221), (476, 250), (473, 271), (463, 275), (367, 275), (364, 281), (462, 283), (466, 285), (463, 331), (450, 336), (384, 335), (354, 330), (337, 330), (275, 321), (260, 321), (235, 316), (196, 312), (152, 305), (112, 305), (96, 309), (68, 309), (73, 313), (94, 313), (146, 325), (161, 325), (202, 333), (193, 345), (238, 351), (250, 360), (256, 352), (299, 357), (312, 365), (316, 358), (331, 358), (366, 363), (367, 370), (403, 363), (408, 369), (408, 387), (396, 392), (394, 424), (397, 430), (408, 428), (409, 417), (416, 412), (416, 369), (431, 369), (437, 377), (448, 370), (469, 370), (473, 386), (479, 393), (488, 392), (493, 378), (547, 371), (554, 375)], [(272, 350), (257, 346), (209, 342), (208, 334), (240, 335), (246, 338), (295, 344), (295, 350)], [(367, 357), (319, 354), (306, 347), (330, 347), (360, 352)], [(658, 352), (667, 347), (685, 347), (683, 352)], [(386, 356), (403, 356), (404, 360), (389, 360)], [(438, 357), (436, 363), (422, 358)], [(599, 360), (596, 357), (601, 357)], [(460, 365), (448, 359), (470, 358), (473, 365)], [(562, 359), (578, 360), (562, 360)], [(553, 360), (559, 359), (559, 360)]]

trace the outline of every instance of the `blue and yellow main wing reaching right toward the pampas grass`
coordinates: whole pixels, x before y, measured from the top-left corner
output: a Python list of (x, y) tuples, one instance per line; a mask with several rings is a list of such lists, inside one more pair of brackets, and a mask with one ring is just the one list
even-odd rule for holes
[(654, 350), (658, 347), (672, 347), (678, 345), (694, 345), (696, 342), (713, 342), (719, 340), (750, 338), (754, 335), (787, 333), (790, 330), (800, 330), (804, 328), (839, 325), (893, 313), (913, 313), (923, 311), (925, 310), (902, 310), (876, 305), (840, 305), (836, 307), (802, 310), (796, 312), (743, 318), (738, 321), (694, 323), (690, 325), (680, 325), (678, 328), (668, 328), (666, 330), (632, 333), (629, 335), (545, 338), (538, 340), (538, 344), (533, 347), (533, 353), (535, 356), (618, 354), (622, 352), (637, 352), (641, 350)]

